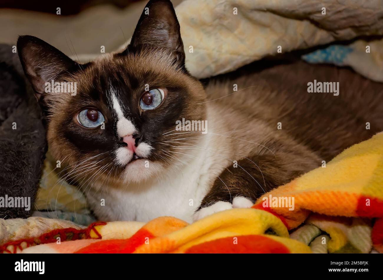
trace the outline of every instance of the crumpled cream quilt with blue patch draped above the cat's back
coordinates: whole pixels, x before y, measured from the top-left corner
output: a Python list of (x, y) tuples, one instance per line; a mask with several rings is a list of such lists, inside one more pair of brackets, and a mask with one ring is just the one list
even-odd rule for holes
[[(198, 78), (230, 72), (268, 55), (383, 34), (379, 0), (353, 1), (352, 5), (337, 0), (186, 0), (175, 10), (186, 66)], [(118, 51), (126, 44), (121, 42)], [(358, 40), (345, 47), (348, 53), (330, 48), (341, 63), (339, 59), (321, 63), (347, 65), (383, 82), (382, 44), (383, 40)], [(314, 57), (318, 59), (318, 53), (304, 59), (313, 62)], [(79, 55), (84, 61), (94, 58)]]

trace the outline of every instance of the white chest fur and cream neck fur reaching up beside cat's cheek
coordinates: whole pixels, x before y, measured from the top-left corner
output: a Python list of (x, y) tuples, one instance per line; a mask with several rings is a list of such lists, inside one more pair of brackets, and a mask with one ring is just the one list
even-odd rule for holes
[[(104, 221), (145, 222), (160, 216), (172, 216), (191, 222), (194, 211), (200, 206), (214, 180), (236, 159), (232, 153), (239, 153), (238, 149), (242, 145), (249, 144), (243, 142), (232, 145), (229, 140), (233, 138), (217, 134), (237, 130), (235, 122), (223, 119), (227, 109), (220, 109), (208, 110), (209, 132), (198, 142), (199, 150), (175, 150), (193, 155), (173, 154), (182, 158), (183, 162), (187, 161), (187, 164), (176, 161), (172, 171), (164, 171), (164, 174), (157, 174), (151, 181), (141, 184), (118, 188), (105, 186), (101, 193), (92, 194), (92, 190), (100, 187), (93, 186), (88, 201), (97, 218)], [(101, 206), (102, 199), (105, 206)]]

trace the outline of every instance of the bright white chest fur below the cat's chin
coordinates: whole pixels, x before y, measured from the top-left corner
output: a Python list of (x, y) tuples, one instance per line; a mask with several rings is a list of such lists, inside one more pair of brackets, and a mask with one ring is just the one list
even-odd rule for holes
[(187, 165), (180, 164), (181, 169), (150, 182), (130, 184), (125, 189), (108, 188), (98, 194), (90, 193), (88, 201), (100, 220), (145, 222), (172, 216), (191, 222), (195, 209), (225, 164), (214, 153), (201, 150)]

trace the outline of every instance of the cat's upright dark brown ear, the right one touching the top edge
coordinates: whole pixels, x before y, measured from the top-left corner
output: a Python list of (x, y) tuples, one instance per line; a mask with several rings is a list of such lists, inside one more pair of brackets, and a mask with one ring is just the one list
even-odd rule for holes
[(145, 48), (167, 49), (176, 63), (182, 67), (185, 65), (180, 24), (169, 0), (151, 0), (146, 4), (126, 51), (136, 52)]

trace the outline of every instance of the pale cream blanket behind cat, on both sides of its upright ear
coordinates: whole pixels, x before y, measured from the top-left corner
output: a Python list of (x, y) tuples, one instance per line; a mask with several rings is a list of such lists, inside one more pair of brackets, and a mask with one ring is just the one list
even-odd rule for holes
[[(92, 7), (70, 18), (0, 9), (0, 25), (7, 26), (0, 40), (14, 44), (18, 34), (30, 34), (73, 59), (88, 62), (101, 55), (100, 46), (105, 46), (105, 52), (126, 47), (146, 2), (124, 10)], [(342, 50), (325, 47), (304, 59), (350, 66), (365, 77), (383, 81), (380, 0), (172, 2), (180, 21), (186, 66), (198, 78), (230, 72), (268, 55), (345, 41)], [(52, 36), (57, 30), (59, 36)]]

